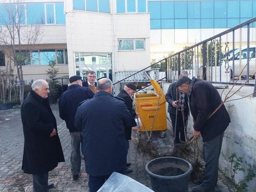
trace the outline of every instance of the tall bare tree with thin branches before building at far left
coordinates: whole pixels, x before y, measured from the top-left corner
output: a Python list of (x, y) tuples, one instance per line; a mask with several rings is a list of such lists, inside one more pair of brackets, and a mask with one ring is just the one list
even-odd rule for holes
[[(7, 58), (16, 67), (16, 73), (20, 82), (20, 102), (24, 100), (24, 78), (23, 65), (30, 64), (30, 52), (36, 44), (39, 44), (44, 36), (42, 19), (27, 24), (26, 18), (29, 12), (23, 0), (6, 0), (3, 10), (0, 11), (0, 46), (4, 50)], [(44, 23), (44, 22), (43, 22)]]

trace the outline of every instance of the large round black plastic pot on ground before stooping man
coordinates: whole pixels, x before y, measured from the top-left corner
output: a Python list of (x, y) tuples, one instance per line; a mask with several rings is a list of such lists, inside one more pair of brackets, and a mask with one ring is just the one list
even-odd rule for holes
[(161, 157), (146, 164), (154, 192), (188, 192), (192, 165), (184, 159)]

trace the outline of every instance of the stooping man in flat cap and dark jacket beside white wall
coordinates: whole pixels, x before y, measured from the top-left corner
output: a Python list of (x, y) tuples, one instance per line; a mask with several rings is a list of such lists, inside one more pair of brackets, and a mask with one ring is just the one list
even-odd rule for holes
[[(213, 191), (218, 180), (218, 161), (224, 131), (230, 123), (230, 117), (216, 88), (209, 82), (195, 77), (180, 78), (176, 86), (182, 93), (189, 94), (190, 112), (194, 118), (193, 135), (203, 138), (203, 153), (205, 158), (205, 176), (202, 184), (192, 188), (192, 192)], [(211, 117), (210, 117), (211, 116)]]

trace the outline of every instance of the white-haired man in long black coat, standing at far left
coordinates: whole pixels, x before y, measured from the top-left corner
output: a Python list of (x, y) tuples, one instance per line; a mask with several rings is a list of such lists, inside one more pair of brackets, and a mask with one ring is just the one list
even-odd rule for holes
[(48, 192), (48, 172), (65, 160), (56, 119), (47, 99), (48, 83), (36, 80), (31, 87), (21, 107), (24, 132), (22, 170), (32, 174), (34, 192)]

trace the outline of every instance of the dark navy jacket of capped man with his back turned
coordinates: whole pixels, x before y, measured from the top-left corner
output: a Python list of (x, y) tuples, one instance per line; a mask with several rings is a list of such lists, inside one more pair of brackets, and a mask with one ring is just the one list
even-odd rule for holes
[(60, 118), (65, 120), (69, 132), (77, 132), (74, 126), (76, 110), (80, 102), (93, 98), (94, 93), (88, 87), (80, 85), (70, 85), (68, 90), (61, 94), (59, 100)]

